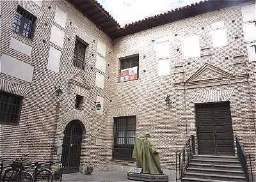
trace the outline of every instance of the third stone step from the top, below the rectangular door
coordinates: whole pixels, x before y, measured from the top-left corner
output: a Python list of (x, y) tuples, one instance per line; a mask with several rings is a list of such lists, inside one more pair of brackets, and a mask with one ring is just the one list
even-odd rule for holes
[(211, 164), (211, 163), (196, 163), (190, 162), (189, 167), (193, 168), (204, 168), (204, 169), (220, 169), (220, 170), (230, 170), (230, 171), (243, 171), (242, 166), (236, 165), (221, 165), (221, 164)]

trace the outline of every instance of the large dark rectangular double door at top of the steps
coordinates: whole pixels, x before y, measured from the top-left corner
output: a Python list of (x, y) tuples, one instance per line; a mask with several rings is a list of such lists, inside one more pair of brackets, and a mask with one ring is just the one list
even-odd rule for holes
[(228, 102), (196, 105), (196, 126), (200, 154), (234, 155)]

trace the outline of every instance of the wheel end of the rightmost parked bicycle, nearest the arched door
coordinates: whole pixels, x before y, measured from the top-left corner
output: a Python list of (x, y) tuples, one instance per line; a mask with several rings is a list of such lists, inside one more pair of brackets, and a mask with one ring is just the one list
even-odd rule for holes
[(38, 181), (52, 182), (53, 180), (52, 171), (50, 169), (40, 169), (40, 168), (41, 168), (41, 165), (38, 162), (36, 162), (35, 170), (33, 172), (34, 181), (35, 182), (38, 182)]

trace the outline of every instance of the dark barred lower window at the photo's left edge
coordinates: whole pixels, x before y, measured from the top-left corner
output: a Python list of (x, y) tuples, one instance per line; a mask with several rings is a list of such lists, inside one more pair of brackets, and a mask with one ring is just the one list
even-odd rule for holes
[(22, 96), (0, 91), (0, 122), (19, 123)]

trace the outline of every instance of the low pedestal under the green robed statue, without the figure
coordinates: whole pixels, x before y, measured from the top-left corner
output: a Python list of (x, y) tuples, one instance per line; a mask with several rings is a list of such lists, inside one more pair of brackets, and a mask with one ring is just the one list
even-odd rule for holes
[(168, 175), (165, 174), (142, 174), (127, 172), (127, 178), (137, 181), (167, 182)]

